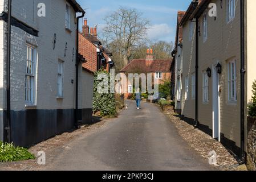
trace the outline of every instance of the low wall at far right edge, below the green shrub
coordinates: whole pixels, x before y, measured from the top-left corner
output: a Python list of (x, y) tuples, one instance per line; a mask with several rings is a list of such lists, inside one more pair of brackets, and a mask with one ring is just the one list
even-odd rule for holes
[(248, 121), (247, 168), (256, 171), (256, 119)]

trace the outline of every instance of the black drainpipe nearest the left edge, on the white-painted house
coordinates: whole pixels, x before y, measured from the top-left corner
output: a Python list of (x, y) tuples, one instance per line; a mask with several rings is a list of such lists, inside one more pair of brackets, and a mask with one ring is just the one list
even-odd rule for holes
[(11, 0), (8, 0), (7, 21), (7, 60), (6, 60), (6, 92), (7, 92), (7, 115), (5, 130), (8, 133), (8, 143), (11, 143)]

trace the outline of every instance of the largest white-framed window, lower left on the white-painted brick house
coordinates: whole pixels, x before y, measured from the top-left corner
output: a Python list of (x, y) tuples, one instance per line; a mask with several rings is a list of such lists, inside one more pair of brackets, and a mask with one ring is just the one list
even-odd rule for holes
[(35, 104), (35, 76), (36, 76), (36, 50), (26, 46), (26, 81), (25, 101), (27, 104)]

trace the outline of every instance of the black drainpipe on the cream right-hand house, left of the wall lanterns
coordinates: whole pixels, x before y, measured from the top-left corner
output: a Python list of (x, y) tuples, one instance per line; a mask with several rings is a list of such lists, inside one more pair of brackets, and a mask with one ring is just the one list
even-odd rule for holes
[(198, 127), (198, 18), (196, 18), (196, 106), (195, 106), (194, 127)]

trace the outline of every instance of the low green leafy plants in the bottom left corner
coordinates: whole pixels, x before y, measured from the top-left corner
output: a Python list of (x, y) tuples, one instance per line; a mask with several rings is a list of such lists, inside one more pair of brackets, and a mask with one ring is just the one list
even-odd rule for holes
[(0, 141), (0, 162), (14, 162), (35, 159), (35, 156), (23, 147), (15, 147), (13, 143)]

